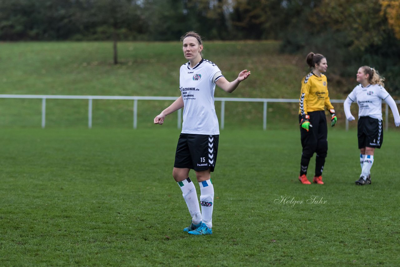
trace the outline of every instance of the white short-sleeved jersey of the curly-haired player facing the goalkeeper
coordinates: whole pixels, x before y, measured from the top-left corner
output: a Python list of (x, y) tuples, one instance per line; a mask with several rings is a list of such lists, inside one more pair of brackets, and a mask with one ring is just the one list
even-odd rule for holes
[(370, 116), (382, 120), (382, 99), (385, 100), (389, 93), (379, 84), (370, 84), (363, 87), (358, 84), (348, 98), (358, 104), (358, 118)]

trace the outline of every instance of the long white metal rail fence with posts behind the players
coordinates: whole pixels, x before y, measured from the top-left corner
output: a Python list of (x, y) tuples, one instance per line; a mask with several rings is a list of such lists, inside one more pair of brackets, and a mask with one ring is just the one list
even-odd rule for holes
[[(42, 128), (46, 126), (46, 99), (87, 99), (88, 100), (88, 127), (92, 128), (92, 102), (93, 99), (101, 100), (133, 100), (133, 128), (137, 128), (138, 121), (138, 100), (176, 100), (177, 96), (68, 96), (68, 95), (42, 95), (42, 94), (0, 94), (0, 98), (34, 98), (42, 99)], [(221, 102), (221, 116), (220, 128), (224, 129), (225, 120), (225, 102), (262, 102), (263, 116), (262, 124), (263, 129), (267, 128), (267, 107), (268, 102), (280, 103), (296, 103), (298, 99), (285, 99), (285, 98), (228, 98), (216, 97), (215, 101)], [(331, 99), (332, 103), (343, 103), (344, 100)], [(400, 103), (399, 100), (396, 103)], [(385, 103), (385, 129), (388, 129), (388, 104)], [(346, 120), (346, 130), (348, 130), (348, 120)], [(178, 110), (178, 128), (182, 127), (182, 110)]]

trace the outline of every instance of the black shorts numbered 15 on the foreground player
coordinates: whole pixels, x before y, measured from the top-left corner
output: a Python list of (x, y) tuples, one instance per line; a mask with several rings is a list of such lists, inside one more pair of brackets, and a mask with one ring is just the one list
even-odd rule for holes
[(214, 171), (218, 153), (219, 135), (181, 133), (176, 146), (175, 168), (195, 171)]

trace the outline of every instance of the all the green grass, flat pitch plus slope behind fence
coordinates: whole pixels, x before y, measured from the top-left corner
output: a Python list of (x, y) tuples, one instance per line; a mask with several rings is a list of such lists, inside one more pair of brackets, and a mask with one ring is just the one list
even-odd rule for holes
[[(179, 42), (121, 42), (116, 66), (110, 42), (0, 45), (1, 94), (178, 97), (186, 62)], [(304, 56), (278, 54), (278, 47), (206, 42), (204, 58), (228, 80), (252, 72), (233, 94), (216, 89), (215, 96), (298, 98)], [(356, 85), (328, 82), (336, 99)], [(298, 104), (268, 103), (262, 131), (262, 103), (227, 102), (212, 174), (214, 234), (193, 237), (182, 231), (190, 218), (172, 178), (177, 115), (152, 125), (172, 101), (139, 101), (137, 130), (132, 102), (94, 100), (88, 130), (87, 100), (47, 100), (41, 129), (40, 99), (0, 99), (0, 266), (399, 264), (400, 134), (391, 112), (372, 185), (354, 185), (356, 122), (344, 131), (337, 104), (326, 184), (304, 186)]]

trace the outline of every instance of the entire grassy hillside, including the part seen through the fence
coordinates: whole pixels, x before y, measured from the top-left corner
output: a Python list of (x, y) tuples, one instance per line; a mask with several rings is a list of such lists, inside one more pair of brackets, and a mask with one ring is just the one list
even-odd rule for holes
[[(180, 42), (121, 42), (120, 64), (112, 64), (110, 42), (2, 43), (2, 94), (66, 94), (179, 96), (179, 67), (186, 62)], [(243, 69), (252, 75), (232, 94), (217, 88), (216, 97), (298, 98), (300, 80), (308, 72), (304, 56), (278, 54), (279, 42), (206, 42), (204, 58), (215, 62), (228, 80)], [(329, 78), (329, 69), (328, 69)], [(350, 90), (354, 84), (349, 84)], [(331, 98), (346, 91), (329, 84)], [(40, 126), (40, 100), (0, 99), (0, 126)], [(138, 127), (171, 102), (140, 102)], [(86, 127), (86, 100), (48, 100), (46, 127)], [(132, 102), (95, 100), (93, 127), (132, 127)], [(297, 104), (268, 104), (268, 127), (292, 127)], [(342, 107), (339, 111), (338, 127)], [(220, 104), (216, 103), (219, 116)], [(171, 118), (176, 115), (171, 115)], [(226, 127), (262, 127), (261, 103), (227, 103)], [(171, 120), (174, 121), (174, 120)], [(166, 127), (176, 127), (175, 121)]]

